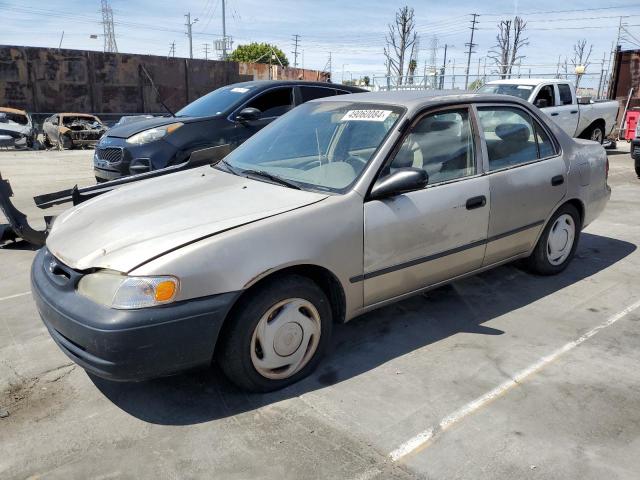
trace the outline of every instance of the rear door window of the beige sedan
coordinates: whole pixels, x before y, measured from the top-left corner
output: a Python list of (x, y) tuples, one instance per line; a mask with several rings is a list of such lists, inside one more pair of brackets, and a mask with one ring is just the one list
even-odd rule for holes
[(542, 127), (519, 108), (479, 107), (478, 117), (487, 145), (489, 170), (517, 166), (555, 153)]

